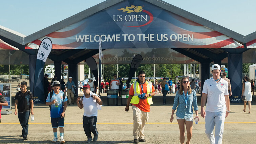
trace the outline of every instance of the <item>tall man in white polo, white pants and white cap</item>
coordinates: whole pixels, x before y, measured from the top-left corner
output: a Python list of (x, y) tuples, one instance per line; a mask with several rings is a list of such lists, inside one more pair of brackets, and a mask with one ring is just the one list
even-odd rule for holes
[[(201, 97), (201, 117), (205, 118), (205, 133), (211, 144), (221, 144), (225, 118), (230, 113), (228, 82), (220, 77), (220, 66), (212, 65), (212, 78), (205, 81)], [(207, 109), (205, 103), (207, 99)], [(227, 111), (226, 111), (227, 109)], [(215, 126), (215, 138), (213, 129)]]

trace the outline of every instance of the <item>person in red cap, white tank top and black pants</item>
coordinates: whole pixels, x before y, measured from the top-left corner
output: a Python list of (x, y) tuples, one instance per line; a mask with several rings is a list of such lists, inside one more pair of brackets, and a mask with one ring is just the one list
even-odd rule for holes
[(80, 109), (84, 108), (83, 127), (85, 135), (87, 136), (86, 143), (92, 141), (91, 133), (93, 134), (93, 141), (98, 139), (98, 131), (96, 128), (98, 110), (101, 110), (102, 100), (99, 95), (90, 91), (90, 85), (83, 86), (84, 95), (77, 99), (77, 106)]

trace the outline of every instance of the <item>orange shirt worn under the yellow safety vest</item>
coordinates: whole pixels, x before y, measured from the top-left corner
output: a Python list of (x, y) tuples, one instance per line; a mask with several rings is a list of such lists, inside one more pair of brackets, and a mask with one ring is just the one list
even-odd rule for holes
[[(139, 83), (139, 86), (140, 86), (140, 94), (147, 93), (147, 83), (146, 82), (143, 84), (143, 92), (142, 92), (142, 88), (141, 88), (140, 83)], [(152, 85), (152, 93), (153, 92), (155, 92), (155, 88)], [(133, 84), (130, 87), (129, 95), (132, 95), (132, 96), (134, 95)], [(143, 112), (150, 112), (150, 110), (149, 110), (150, 105), (148, 104), (148, 100), (146, 98), (145, 99), (140, 99), (138, 104), (133, 104), (132, 103), (132, 105), (138, 107)]]

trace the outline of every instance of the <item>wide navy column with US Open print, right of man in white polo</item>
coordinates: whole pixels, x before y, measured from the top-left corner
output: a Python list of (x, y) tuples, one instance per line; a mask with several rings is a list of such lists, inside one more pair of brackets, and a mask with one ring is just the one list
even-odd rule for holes
[(230, 79), (232, 96), (231, 103), (241, 103), (242, 94), (242, 53), (228, 54), (228, 78)]

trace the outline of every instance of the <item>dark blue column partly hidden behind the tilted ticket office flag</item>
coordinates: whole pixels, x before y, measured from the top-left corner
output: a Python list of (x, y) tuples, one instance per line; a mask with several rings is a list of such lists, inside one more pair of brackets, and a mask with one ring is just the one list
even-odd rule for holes
[(35, 69), (36, 69), (37, 55), (29, 54), (29, 91), (34, 96), (34, 80), (35, 80)]

